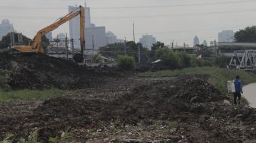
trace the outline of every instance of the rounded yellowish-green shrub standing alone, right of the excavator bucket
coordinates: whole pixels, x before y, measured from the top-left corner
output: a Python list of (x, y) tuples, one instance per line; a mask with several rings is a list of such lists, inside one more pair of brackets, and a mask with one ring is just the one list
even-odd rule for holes
[(132, 71), (135, 68), (135, 59), (133, 56), (118, 56), (117, 66), (123, 71)]

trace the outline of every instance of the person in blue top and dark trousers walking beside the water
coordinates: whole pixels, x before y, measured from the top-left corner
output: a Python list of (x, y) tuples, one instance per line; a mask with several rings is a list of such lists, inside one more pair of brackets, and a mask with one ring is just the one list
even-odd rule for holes
[(234, 84), (235, 84), (234, 103), (236, 105), (237, 104), (237, 99), (238, 99), (238, 104), (240, 104), (241, 94), (243, 94), (242, 81), (241, 81), (239, 76), (235, 77)]

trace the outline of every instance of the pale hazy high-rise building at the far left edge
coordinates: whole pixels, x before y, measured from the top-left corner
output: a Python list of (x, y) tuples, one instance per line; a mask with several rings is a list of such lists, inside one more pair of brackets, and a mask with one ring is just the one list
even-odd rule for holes
[(2, 23), (0, 24), (0, 40), (2, 40), (2, 37), (5, 37), (10, 32), (14, 32), (14, 27), (12, 24), (10, 24), (10, 21), (7, 19), (2, 20)]

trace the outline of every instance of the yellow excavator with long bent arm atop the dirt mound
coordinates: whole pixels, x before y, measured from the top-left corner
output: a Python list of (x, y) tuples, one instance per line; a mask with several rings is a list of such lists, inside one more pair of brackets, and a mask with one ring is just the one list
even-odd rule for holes
[(67, 21), (71, 20), (73, 17), (76, 17), (80, 14), (80, 44), (81, 44), (81, 54), (84, 53), (85, 48), (85, 8), (79, 6), (78, 9), (75, 9), (71, 13), (67, 14), (66, 16), (60, 18), (53, 24), (48, 27), (43, 28), (37, 32), (36, 37), (34, 40), (30, 41), (28, 46), (12, 46), (15, 52), (21, 54), (34, 54), (34, 53), (43, 53), (43, 43), (41, 41), (41, 37), (46, 35), (52, 30), (55, 30), (60, 25), (65, 24)]

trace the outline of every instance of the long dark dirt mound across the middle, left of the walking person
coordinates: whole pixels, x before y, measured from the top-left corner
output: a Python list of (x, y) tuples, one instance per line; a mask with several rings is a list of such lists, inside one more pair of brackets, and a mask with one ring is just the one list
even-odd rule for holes
[[(181, 79), (178, 79), (181, 80)], [(136, 125), (143, 119), (175, 119), (181, 112), (198, 110), (193, 103), (206, 103), (226, 99), (218, 90), (203, 80), (161, 81), (136, 87), (131, 94), (115, 100), (85, 100), (59, 97), (46, 100), (38, 113), (54, 116), (90, 116), (102, 121), (120, 120)], [(190, 84), (191, 87), (184, 88)], [(200, 89), (204, 87), (204, 90)], [(187, 89), (187, 90), (185, 90)], [(198, 101), (198, 102), (197, 102)]]

